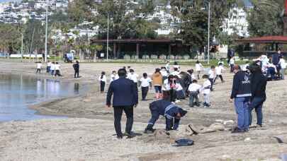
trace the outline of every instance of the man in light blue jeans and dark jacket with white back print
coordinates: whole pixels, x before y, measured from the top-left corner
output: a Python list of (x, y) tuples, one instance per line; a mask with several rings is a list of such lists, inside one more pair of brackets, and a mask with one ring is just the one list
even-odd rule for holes
[(249, 109), (248, 103), (251, 93), (250, 80), (244, 71), (241, 71), (240, 66), (235, 65), (235, 76), (233, 77), (232, 93), (230, 102), (235, 100), (235, 109), (237, 113), (237, 129), (232, 133), (244, 133), (249, 130)]

